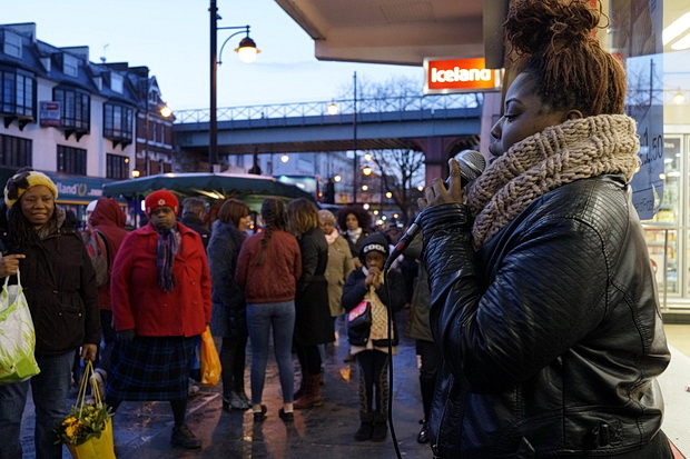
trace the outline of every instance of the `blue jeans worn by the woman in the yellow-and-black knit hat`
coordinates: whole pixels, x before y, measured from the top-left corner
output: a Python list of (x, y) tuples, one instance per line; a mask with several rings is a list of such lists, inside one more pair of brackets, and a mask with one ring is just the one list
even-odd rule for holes
[(71, 380), (75, 351), (60, 356), (36, 356), (41, 372), (28, 381), (0, 385), (0, 459), (19, 459), (21, 417), (27, 405), (29, 386), (36, 406), (37, 459), (61, 459), (62, 445), (52, 429), (68, 413), (67, 398)]

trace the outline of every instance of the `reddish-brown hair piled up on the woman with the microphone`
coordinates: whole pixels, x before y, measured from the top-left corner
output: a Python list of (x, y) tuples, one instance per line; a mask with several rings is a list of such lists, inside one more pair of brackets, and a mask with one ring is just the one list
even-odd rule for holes
[[(503, 23), (505, 40), (526, 60), (542, 101), (585, 117), (623, 113), (625, 71), (592, 31), (604, 17), (589, 0), (516, 0)], [(608, 19), (608, 18), (607, 18)]]

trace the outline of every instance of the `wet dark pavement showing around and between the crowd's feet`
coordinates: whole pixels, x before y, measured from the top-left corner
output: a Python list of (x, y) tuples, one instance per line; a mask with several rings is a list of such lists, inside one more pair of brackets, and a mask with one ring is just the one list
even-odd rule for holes
[[(404, 312), (398, 319), (404, 319)], [(403, 320), (404, 321), (404, 320)], [(187, 423), (201, 439), (200, 450), (170, 446), (172, 413), (168, 402), (124, 402), (114, 417), (115, 452), (118, 459), (237, 458), (237, 459), (355, 459), (397, 458), (391, 431), (384, 442), (355, 441), (359, 427), (358, 373), (356, 362), (344, 362), (347, 340), (343, 337), (325, 352), (324, 405), (296, 410), (294, 422), (278, 417), (283, 407), (278, 370), (268, 360), (264, 405), (267, 419), (254, 422), (250, 411), (224, 411), (220, 385), (201, 388), (190, 398)], [(404, 323), (400, 323), (404, 330)], [(249, 395), (250, 345), (247, 347), (247, 395)], [(273, 350), (272, 350), (273, 352)], [(298, 368), (295, 359), (296, 369)], [(416, 442), (422, 418), (414, 341), (402, 337), (393, 358), (393, 422), (402, 458), (431, 458), (428, 445)], [(297, 370), (296, 370), (297, 371)], [(23, 459), (34, 459), (32, 407), (27, 407), (22, 426)], [(70, 453), (65, 449), (65, 458)]]

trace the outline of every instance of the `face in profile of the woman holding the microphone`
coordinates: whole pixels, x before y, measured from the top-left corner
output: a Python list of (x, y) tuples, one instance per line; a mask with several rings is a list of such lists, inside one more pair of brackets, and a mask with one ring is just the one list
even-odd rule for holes
[(491, 129), (490, 161), (505, 153), (514, 143), (556, 126), (580, 118), (578, 110), (553, 110), (534, 91), (531, 73), (520, 73), (505, 93), (505, 111)]

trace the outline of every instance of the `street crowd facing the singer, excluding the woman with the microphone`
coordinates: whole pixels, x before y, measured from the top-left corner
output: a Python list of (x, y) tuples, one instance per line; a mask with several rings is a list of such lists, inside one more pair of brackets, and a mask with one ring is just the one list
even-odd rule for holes
[[(0, 276), (22, 272), (41, 372), (0, 385), (1, 459), (21, 457), (29, 389), (37, 458), (61, 458), (53, 429), (67, 415), (85, 359), (93, 362), (92, 381), (115, 422), (122, 401), (168, 401), (171, 445), (200, 448), (186, 415), (207, 326), (220, 343), (223, 409), (252, 410), (256, 422), (266, 418), (262, 398), (273, 337), (284, 399), (278, 416), (290, 422), (294, 410), (323, 405), (323, 348), (336, 340), (338, 318), (363, 300), (371, 303), (371, 329), (339, 338), (352, 345), (359, 368), (355, 439), (386, 438), (387, 311), (406, 302), (405, 287), (395, 271), (391, 288), (383, 288), (381, 269), (395, 241), (372, 229), (361, 206), (335, 216), (305, 199), (286, 206), (267, 198), (260, 230), (250, 233), (252, 211), (238, 199), (219, 203), (210, 221), (206, 201), (180, 203), (168, 190), (154, 191), (145, 200), (145, 223), (131, 229), (112, 198), (90, 203), (80, 227), (56, 204), (50, 178), (30, 168), (8, 181), (4, 194)], [(397, 340), (394, 328), (392, 343)]]

